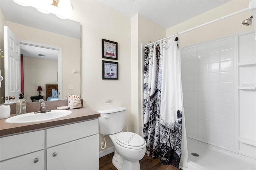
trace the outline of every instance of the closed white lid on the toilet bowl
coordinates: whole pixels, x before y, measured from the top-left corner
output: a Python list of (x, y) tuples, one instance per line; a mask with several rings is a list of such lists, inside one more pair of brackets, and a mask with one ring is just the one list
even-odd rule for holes
[(115, 139), (118, 144), (130, 149), (142, 149), (146, 146), (144, 138), (133, 132), (120, 133)]

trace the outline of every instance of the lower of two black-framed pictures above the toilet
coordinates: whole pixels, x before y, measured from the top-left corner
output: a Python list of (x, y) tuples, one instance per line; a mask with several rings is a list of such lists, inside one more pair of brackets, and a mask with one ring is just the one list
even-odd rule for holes
[(102, 79), (118, 80), (118, 63), (102, 60)]

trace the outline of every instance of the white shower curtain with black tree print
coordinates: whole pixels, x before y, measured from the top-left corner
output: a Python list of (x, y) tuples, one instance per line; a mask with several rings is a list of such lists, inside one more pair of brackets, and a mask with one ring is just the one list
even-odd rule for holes
[(145, 47), (144, 126), (146, 153), (161, 164), (187, 166), (180, 51), (174, 38)]

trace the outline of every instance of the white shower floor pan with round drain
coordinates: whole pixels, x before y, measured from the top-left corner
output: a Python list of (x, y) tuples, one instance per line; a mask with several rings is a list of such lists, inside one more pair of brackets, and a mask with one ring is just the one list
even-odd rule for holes
[(181, 167), (183, 170), (256, 170), (256, 160), (253, 158), (189, 137), (187, 143), (188, 167)]

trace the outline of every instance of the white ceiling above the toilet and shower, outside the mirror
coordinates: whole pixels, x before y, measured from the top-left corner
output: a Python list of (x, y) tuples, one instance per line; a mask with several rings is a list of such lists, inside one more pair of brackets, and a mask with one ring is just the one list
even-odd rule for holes
[(141, 14), (162, 28), (170, 28), (230, 0), (99, 0), (122, 14)]

